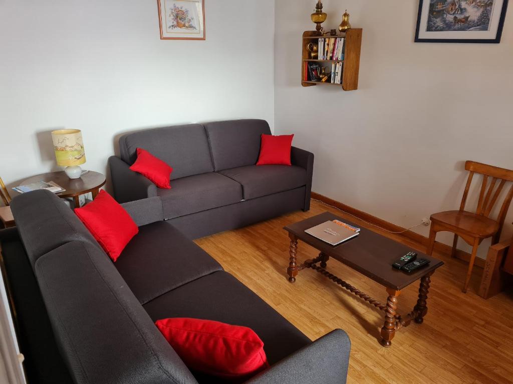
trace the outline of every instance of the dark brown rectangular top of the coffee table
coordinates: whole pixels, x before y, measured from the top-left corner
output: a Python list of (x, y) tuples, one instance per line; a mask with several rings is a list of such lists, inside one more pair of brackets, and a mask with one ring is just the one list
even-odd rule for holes
[[(441, 260), (409, 248), (366, 228), (361, 228), (360, 234), (356, 238), (337, 246), (325, 243), (305, 232), (305, 229), (335, 219), (358, 227), (357, 224), (351, 223), (346, 219), (333, 215), (330, 212), (324, 212), (298, 223), (287, 225), (284, 229), (329, 257), (346, 264), (373, 281), (395, 290), (407, 287), (426, 273), (444, 265)], [(406, 273), (392, 267), (394, 261), (410, 251), (417, 253), (417, 259), (425, 258), (431, 262), (427, 267), (413, 273)]]

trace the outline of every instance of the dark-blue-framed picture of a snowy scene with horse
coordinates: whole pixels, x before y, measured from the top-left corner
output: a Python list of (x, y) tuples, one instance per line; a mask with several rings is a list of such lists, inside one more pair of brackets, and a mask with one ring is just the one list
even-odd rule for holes
[(420, 0), (416, 42), (501, 41), (508, 0)]

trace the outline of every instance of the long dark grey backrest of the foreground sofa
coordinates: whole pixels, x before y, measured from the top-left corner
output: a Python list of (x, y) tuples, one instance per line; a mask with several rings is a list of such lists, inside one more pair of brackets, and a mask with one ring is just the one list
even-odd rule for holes
[[(148, 203), (155, 213), (142, 220), (158, 219), (159, 200)], [(56, 343), (76, 383), (197, 383), (61, 199), (38, 190), (15, 197), (11, 206)]]

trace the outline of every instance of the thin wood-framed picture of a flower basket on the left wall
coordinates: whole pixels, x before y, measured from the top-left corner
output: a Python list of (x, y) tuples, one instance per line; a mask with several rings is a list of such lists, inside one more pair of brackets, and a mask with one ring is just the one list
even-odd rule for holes
[(205, 0), (157, 0), (162, 40), (205, 40)]

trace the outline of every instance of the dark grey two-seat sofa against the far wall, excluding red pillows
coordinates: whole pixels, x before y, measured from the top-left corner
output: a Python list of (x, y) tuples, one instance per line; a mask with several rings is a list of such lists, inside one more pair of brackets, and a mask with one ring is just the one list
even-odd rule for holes
[[(200, 238), (293, 210), (310, 209), (313, 154), (292, 147), (292, 166), (255, 165), (264, 120), (230, 120), (163, 127), (120, 138), (109, 159), (120, 203), (160, 196), (164, 218)], [(129, 169), (141, 147), (173, 167), (171, 189), (157, 188)]]

